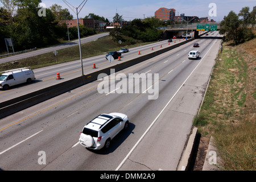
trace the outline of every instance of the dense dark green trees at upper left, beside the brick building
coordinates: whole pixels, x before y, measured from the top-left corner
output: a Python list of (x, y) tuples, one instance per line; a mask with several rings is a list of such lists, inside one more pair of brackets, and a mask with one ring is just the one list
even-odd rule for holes
[[(46, 8), (46, 16), (39, 16), (41, 0), (0, 0), (0, 52), (6, 51), (5, 38), (13, 39), (15, 52), (40, 48), (67, 40), (66, 18), (72, 19), (68, 9), (59, 5)], [(68, 16), (68, 17), (67, 17)], [(77, 39), (77, 28), (69, 28), (70, 39)], [(93, 35), (95, 30), (81, 26), (80, 35)]]

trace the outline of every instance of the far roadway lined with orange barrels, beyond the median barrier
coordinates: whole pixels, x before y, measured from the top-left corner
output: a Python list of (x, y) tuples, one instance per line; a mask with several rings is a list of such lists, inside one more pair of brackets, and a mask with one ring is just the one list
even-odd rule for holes
[[(183, 40), (181, 39), (180, 41)], [(135, 57), (150, 53), (152, 52), (152, 47), (153, 51), (155, 51), (161, 49), (160, 45), (162, 45), (163, 48), (166, 46), (171, 46), (173, 44), (175, 43), (171, 43), (170, 45), (168, 45), (167, 40), (164, 40), (162, 42), (156, 42), (144, 46), (131, 48), (129, 50), (130, 52), (122, 54), (121, 61), (128, 61), (134, 59)], [(141, 52), (141, 55), (138, 55), (139, 51)], [(118, 62), (119, 61), (115, 59), (112, 63), (109, 63), (109, 61), (105, 59), (105, 54), (83, 59), (84, 74), (86, 75), (87, 73), (92, 73), (94, 71), (97, 71), (98, 69), (107, 68), (110, 65), (118, 64)], [(97, 69), (92, 69), (93, 63), (96, 64)], [(9, 90), (0, 90), (0, 102), (22, 96), (23, 94), (27, 94), (35, 90), (46, 88), (47, 86), (55, 85), (61, 81), (67, 81), (72, 78), (81, 76), (81, 61), (71, 61), (69, 63), (34, 69), (34, 73), (36, 81), (32, 82), (32, 84), (21, 84), (13, 86)], [(56, 73), (60, 73), (60, 76), (62, 78), (61, 80), (56, 80)]]

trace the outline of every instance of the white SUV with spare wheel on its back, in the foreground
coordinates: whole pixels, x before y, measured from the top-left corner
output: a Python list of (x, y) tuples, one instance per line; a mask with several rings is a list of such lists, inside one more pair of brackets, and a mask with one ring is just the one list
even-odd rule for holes
[(87, 148), (108, 149), (110, 140), (121, 130), (127, 129), (129, 117), (122, 113), (101, 114), (84, 126), (79, 143)]

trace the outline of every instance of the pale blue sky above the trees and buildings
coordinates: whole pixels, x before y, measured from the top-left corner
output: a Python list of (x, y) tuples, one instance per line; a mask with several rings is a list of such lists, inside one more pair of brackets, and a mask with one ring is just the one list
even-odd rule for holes
[[(79, 7), (84, 0), (65, 1), (69, 2), (73, 7)], [(115, 13), (122, 15), (123, 19), (129, 21), (135, 18), (143, 19), (155, 16), (156, 10), (160, 7), (166, 7), (168, 9), (175, 9), (176, 15), (184, 13), (185, 16), (199, 16), (199, 18), (208, 16), (208, 19), (214, 19), (216, 22), (220, 22), (231, 10), (238, 14), (242, 7), (248, 6), (251, 11), (253, 7), (256, 6), (255, 0), (85, 0), (84, 2), (86, 2), (84, 7), (82, 7), (82, 5), (80, 6), (82, 9), (79, 13), (79, 18), (84, 18), (89, 13), (94, 13), (99, 16), (104, 16), (104, 18), (108, 18), (110, 21), (113, 20)], [(63, 8), (67, 8), (74, 18), (77, 17), (73, 12), (76, 11), (76, 9), (72, 11), (70, 8), (72, 6), (69, 5), (70, 7), (68, 7), (63, 0), (42, 0), (42, 3), (44, 3), (46, 7), (50, 7), (56, 3)], [(213, 10), (214, 6), (209, 7), (210, 3), (215, 3), (216, 10)]]

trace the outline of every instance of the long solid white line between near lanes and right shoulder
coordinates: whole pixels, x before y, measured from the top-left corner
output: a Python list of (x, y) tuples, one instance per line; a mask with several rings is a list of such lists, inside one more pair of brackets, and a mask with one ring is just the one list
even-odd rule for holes
[[(215, 40), (216, 42), (217, 40)], [(209, 48), (209, 50), (207, 51), (207, 53), (210, 51), (210, 49), (213, 47), (213, 45), (215, 44), (215, 42), (212, 44), (212, 46)], [(207, 55), (207, 53), (205, 53), (204, 57)], [(203, 59), (204, 59), (203, 57)], [(201, 63), (201, 61), (203, 61), (203, 59), (200, 60), (199, 64)], [(196, 68), (199, 66), (199, 64), (197, 64)], [(170, 104), (170, 102), (174, 99), (174, 97), (176, 96), (176, 94), (179, 92), (179, 90), (181, 89), (181, 87), (185, 84), (185, 82), (188, 80), (188, 78), (192, 75), (192, 73), (196, 70), (193, 69), (193, 71), (190, 73), (190, 75), (187, 77), (187, 79), (183, 82), (183, 84), (181, 84), (180, 88), (177, 89), (177, 91), (175, 92), (174, 96), (172, 96), (172, 98), (170, 99), (170, 101), (168, 101), (168, 103), (166, 104), (166, 106), (164, 106), (164, 108), (162, 109), (162, 111), (160, 111), (160, 113), (158, 114), (158, 116), (154, 119), (154, 121), (151, 123), (151, 125), (147, 128), (147, 130), (143, 133), (143, 135), (141, 136), (141, 138), (139, 138), (139, 140), (137, 141), (137, 143), (135, 143), (135, 145), (133, 146), (133, 148), (131, 148), (130, 152), (125, 156), (125, 158), (122, 160), (122, 162), (119, 164), (119, 166), (115, 169), (115, 171), (118, 171), (118, 169), (123, 165), (123, 163), (125, 163), (125, 161), (127, 160), (127, 158), (131, 155), (131, 152), (134, 151), (134, 149), (138, 146), (139, 142), (141, 142), (141, 140), (144, 138), (144, 136), (147, 134), (148, 130), (151, 129), (151, 127), (154, 125), (154, 123), (156, 122), (156, 120), (160, 117), (160, 115), (163, 113), (164, 109), (166, 109), (166, 107)]]

